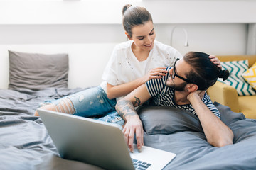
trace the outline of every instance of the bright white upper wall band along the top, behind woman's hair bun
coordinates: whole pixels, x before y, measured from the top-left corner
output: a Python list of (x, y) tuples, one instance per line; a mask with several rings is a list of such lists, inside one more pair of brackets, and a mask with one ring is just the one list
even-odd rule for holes
[(127, 3), (145, 6), (155, 23), (256, 23), (255, 0), (0, 0), (0, 24), (121, 23)]

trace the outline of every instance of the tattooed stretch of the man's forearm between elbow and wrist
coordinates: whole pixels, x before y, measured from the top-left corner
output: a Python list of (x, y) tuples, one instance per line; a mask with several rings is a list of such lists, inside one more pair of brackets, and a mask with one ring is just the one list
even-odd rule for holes
[(137, 112), (134, 109), (131, 101), (121, 100), (117, 102), (116, 105), (117, 113), (125, 120), (125, 116), (127, 115), (137, 115)]

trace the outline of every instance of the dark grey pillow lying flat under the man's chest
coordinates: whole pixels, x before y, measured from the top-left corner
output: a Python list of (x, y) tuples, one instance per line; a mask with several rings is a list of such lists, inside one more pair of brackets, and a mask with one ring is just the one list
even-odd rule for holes
[(149, 135), (174, 132), (203, 132), (196, 115), (181, 108), (167, 106), (141, 106), (137, 109), (144, 131)]

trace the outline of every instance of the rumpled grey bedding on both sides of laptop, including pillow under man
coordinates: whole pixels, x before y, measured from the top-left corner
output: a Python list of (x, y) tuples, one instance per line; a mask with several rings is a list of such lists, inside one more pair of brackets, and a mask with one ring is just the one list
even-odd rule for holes
[[(33, 116), (39, 103), (80, 90), (0, 89), (0, 169), (100, 169), (58, 157), (41, 119)], [(144, 144), (176, 153), (165, 169), (256, 169), (256, 120), (215, 105), (234, 132), (233, 145), (209, 145), (198, 118), (190, 113), (164, 107), (141, 108)]]

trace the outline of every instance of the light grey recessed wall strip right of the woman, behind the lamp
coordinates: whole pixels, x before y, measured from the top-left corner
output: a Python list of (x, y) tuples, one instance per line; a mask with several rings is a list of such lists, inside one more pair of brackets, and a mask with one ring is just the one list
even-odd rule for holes
[[(173, 24), (156, 25), (157, 39), (170, 45)], [(247, 45), (247, 24), (243, 23), (201, 23), (179, 24), (174, 30), (172, 46), (181, 54), (201, 51), (213, 55), (245, 55)], [(185, 28), (188, 33), (188, 47), (184, 47)]]

